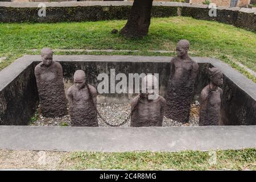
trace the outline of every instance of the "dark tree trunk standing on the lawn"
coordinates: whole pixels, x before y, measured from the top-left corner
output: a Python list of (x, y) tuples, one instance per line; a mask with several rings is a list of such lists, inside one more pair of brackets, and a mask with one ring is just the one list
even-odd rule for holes
[(153, 0), (134, 0), (131, 14), (121, 34), (128, 38), (146, 36), (150, 26)]

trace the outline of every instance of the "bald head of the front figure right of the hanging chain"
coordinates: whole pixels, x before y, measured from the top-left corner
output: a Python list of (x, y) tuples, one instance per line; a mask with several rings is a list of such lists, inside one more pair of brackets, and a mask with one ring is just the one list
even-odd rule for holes
[(142, 80), (142, 96), (149, 100), (158, 98), (158, 78), (154, 75), (147, 75)]

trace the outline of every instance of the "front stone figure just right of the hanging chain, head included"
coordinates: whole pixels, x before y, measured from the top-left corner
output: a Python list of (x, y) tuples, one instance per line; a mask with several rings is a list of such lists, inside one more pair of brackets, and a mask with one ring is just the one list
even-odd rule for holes
[[(146, 93), (142, 93), (135, 97), (131, 103), (131, 127), (146, 127), (146, 126), (162, 126), (164, 117), (164, 108), (166, 100), (154, 93), (158, 85), (155, 76), (148, 75), (143, 78), (146, 85)], [(150, 96), (155, 96), (155, 99), (150, 99)]]

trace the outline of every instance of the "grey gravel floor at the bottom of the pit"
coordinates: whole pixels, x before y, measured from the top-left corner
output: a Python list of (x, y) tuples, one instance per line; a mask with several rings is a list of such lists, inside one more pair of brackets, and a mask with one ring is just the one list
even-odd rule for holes
[[(131, 105), (130, 104), (98, 104), (98, 111), (101, 113), (102, 117), (112, 125), (117, 125), (123, 122), (130, 114)], [(109, 127), (98, 117), (98, 122), (100, 127)], [(164, 117), (163, 126), (198, 126), (199, 117), (193, 116), (189, 119), (188, 123), (180, 123), (172, 121)], [(31, 122), (32, 126), (71, 126), (71, 119), (69, 115), (65, 115), (61, 118), (45, 118), (39, 115), (38, 119)], [(121, 127), (130, 126), (130, 119)]]

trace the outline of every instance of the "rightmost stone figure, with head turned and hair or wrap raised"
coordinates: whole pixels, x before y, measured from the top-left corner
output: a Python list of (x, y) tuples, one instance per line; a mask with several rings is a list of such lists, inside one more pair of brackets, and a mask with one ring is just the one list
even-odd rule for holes
[(200, 126), (220, 125), (223, 75), (217, 68), (209, 68), (209, 75), (210, 84), (200, 94)]

